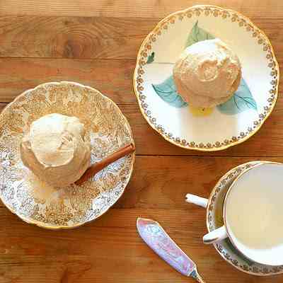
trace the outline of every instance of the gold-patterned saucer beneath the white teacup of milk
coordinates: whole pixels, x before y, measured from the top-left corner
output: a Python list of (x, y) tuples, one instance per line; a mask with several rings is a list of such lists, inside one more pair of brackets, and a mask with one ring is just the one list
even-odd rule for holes
[[(207, 209), (207, 230), (214, 231), (223, 226), (223, 204), (226, 192), (229, 190), (233, 180), (238, 177), (243, 171), (246, 171), (253, 166), (257, 166), (265, 161), (253, 161), (241, 164), (228, 173), (226, 173), (215, 185), (209, 197)], [(283, 273), (283, 266), (262, 265), (258, 262), (253, 262), (245, 258), (236, 248), (233, 247), (229, 238), (226, 238), (219, 243), (214, 244), (214, 248), (218, 251), (224, 260), (236, 267), (238, 270), (249, 273), (251, 275), (267, 276)]]

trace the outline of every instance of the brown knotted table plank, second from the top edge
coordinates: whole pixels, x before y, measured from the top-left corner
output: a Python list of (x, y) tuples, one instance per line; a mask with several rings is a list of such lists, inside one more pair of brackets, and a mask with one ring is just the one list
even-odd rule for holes
[[(159, 20), (130, 14), (127, 18), (0, 16), (0, 57), (135, 60), (141, 41)], [(265, 31), (282, 62), (283, 17), (251, 20)]]

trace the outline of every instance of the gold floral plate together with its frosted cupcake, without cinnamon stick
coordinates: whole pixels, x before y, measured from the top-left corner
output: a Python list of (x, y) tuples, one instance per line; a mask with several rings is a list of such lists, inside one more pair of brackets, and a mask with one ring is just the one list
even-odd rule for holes
[(135, 154), (81, 185), (74, 180), (89, 162), (100, 163), (127, 144), (134, 144), (131, 127), (112, 100), (79, 83), (43, 83), (0, 114), (0, 198), (23, 221), (42, 228), (86, 224), (122, 196)]

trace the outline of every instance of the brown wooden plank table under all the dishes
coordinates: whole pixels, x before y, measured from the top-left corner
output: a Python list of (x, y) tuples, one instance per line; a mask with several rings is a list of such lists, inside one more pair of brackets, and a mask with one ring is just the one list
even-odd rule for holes
[[(21, 3), (22, 2), (22, 3)], [(248, 16), (265, 31), (283, 64), (283, 3), (207, 0)], [(0, 205), (0, 283), (193, 282), (139, 238), (138, 216), (159, 221), (207, 282), (282, 282), (234, 269), (202, 244), (205, 211), (185, 194), (204, 197), (230, 168), (252, 160), (283, 161), (283, 99), (254, 137), (221, 152), (169, 144), (139, 112), (132, 89), (137, 50), (158, 21), (200, 4), (190, 0), (0, 0), (0, 102), (28, 88), (77, 81), (98, 88), (125, 113), (137, 143), (134, 175), (122, 199), (97, 221), (71, 231), (25, 224)]]

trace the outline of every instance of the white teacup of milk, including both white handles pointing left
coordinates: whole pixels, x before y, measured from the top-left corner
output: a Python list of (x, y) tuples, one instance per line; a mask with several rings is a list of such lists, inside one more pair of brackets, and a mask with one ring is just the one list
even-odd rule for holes
[[(260, 163), (233, 181), (223, 209), (224, 226), (204, 235), (204, 243), (229, 237), (243, 255), (264, 265), (283, 265), (283, 164)], [(206, 207), (207, 200), (187, 195)]]

